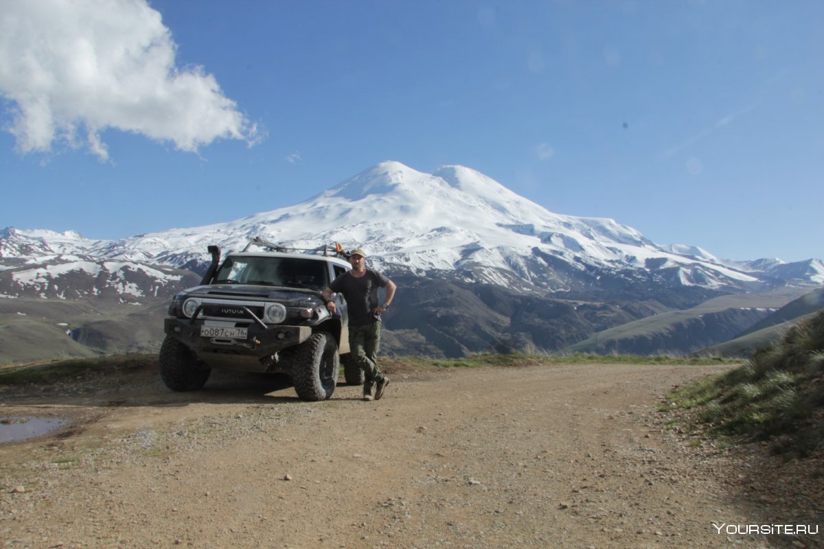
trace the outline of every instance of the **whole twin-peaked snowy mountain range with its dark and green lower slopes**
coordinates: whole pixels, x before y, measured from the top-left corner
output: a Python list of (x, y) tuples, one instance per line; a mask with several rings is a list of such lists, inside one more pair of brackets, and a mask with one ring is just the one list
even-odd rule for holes
[[(667, 341), (683, 343), (653, 346), (691, 352), (824, 283), (818, 259), (725, 261), (698, 246), (653, 243), (611, 219), (549, 212), (469, 168), (425, 174), (387, 161), (306, 202), (227, 223), (120, 240), (0, 230), (0, 319), (16, 330), (0, 334), (0, 362), (156, 349), (166, 301), (199, 281), (191, 271), (208, 264), (207, 246), (225, 253), (254, 236), (365, 249), (402, 287), (384, 319), (385, 350), (402, 355), (559, 351), (740, 294), (746, 306), (667, 325)], [(779, 297), (759, 293), (773, 288)], [(636, 334), (631, 347), (647, 352), (649, 341)]]

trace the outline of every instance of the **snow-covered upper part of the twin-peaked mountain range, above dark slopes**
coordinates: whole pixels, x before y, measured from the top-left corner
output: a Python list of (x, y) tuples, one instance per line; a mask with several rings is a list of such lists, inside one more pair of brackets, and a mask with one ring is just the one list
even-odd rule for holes
[(366, 249), (386, 272), (523, 290), (640, 284), (741, 291), (824, 283), (818, 259), (726, 262), (695, 246), (655, 244), (611, 219), (549, 212), (470, 168), (426, 174), (395, 161), (296, 206), (227, 223), (122, 240), (8, 228), (0, 232), (0, 258), (63, 254), (193, 268), (208, 261), (208, 244), (241, 249), (252, 236), (298, 248), (337, 241)]

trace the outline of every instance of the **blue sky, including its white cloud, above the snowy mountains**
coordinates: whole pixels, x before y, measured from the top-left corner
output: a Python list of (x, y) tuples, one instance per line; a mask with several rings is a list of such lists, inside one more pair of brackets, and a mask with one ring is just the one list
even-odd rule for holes
[(231, 221), (395, 160), (659, 244), (824, 258), (817, 0), (19, 0), (0, 92), (0, 228)]

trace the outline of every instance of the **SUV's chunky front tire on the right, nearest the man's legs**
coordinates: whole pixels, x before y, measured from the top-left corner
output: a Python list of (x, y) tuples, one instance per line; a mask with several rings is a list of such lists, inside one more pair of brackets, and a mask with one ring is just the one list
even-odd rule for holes
[(340, 369), (335, 337), (325, 332), (313, 333), (296, 351), (292, 377), (297, 397), (309, 402), (330, 398)]

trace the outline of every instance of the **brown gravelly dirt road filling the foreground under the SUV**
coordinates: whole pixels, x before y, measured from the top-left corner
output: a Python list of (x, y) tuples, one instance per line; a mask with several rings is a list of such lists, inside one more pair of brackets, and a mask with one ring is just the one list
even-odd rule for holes
[(0, 547), (816, 547), (729, 533), (817, 525), (821, 501), (656, 411), (721, 370), (395, 370), (378, 402), (251, 376), (171, 393), (145, 368), (7, 390), (0, 417), (75, 422), (0, 444)]

